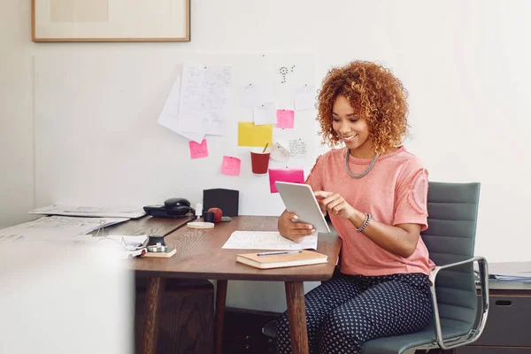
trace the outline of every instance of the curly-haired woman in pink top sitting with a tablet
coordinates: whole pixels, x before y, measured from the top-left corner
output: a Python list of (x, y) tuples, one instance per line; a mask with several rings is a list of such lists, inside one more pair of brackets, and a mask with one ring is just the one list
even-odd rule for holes
[[(435, 266), (419, 237), (427, 228), (427, 170), (401, 145), (407, 91), (381, 65), (355, 61), (327, 73), (319, 93), (320, 135), (331, 147), (308, 176), (342, 238), (338, 270), (305, 296), (310, 350), (360, 353), (374, 338), (426, 327), (432, 318), (427, 274)], [(315, 232), (279, 219), (293, 241)], [(288, 313), (277, 349), (291, 352)]]

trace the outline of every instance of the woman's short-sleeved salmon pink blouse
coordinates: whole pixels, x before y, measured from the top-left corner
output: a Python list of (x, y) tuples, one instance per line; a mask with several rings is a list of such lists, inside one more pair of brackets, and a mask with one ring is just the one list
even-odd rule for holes
[[(378, 158), (366, 176), (355, 179), (345, 169), (346, 148), (334, 149), (317, 158), (306, 181), (312, 189), (339, 193), (360, 212), (384, 224), (419, 224), (427, 229), (427, 170), (419, 158), (404, 146)], [(363, 173), (371, 158), (349, 157), (350, 171)], [(342, 238), (341, 272), (346, 274), (387, 275), (394, 273), (428, 274), (435, 266), (426, 245), (419, 237), (409, 258), (382, 249), (348, 219), (330, 214)]]

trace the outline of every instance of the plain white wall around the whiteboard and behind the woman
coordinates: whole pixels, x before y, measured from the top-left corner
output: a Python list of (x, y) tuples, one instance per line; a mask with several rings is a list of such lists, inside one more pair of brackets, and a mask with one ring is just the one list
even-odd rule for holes
[[(531, 2), (192, 1), (191, 42), (33, 43), (30, 2), (0, 12), (0, 227), (34, 206), (31, 56), (91, 53), (315, 52), (318, 77), (350, 59), (393, 68), (411, 93), (409, 150), (432, 181), (481, 181), (476, 254), (529, 260)], [(229, 285), (228, 304), (280, 310), (281, 285)], [(262, 289), (263, 288), (263, 289)]]

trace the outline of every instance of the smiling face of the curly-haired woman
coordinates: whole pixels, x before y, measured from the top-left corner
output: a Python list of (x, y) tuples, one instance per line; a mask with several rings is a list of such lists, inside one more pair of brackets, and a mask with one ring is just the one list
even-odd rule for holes
[(356, 158), (373, 158), (373, 142), (369, 139), (366, 119), (350, 105), (347, 97), (338, 95), (332, 107), (332, 128)]

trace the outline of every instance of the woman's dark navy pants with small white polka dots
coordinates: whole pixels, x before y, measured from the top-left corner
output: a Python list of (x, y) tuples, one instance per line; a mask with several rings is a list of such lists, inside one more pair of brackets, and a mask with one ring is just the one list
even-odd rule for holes
[[(427, 275), (335, 273), (304, 296), (311, 353), (361, 353), (375, 338), (417, 332), (432, 319)], [(277, 351), (291, 353), (288, 312), (277, 321)]]

